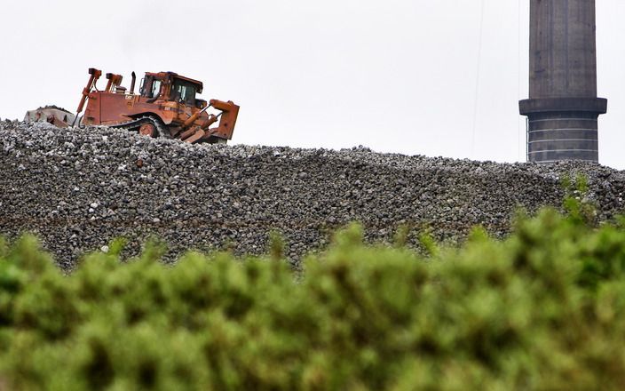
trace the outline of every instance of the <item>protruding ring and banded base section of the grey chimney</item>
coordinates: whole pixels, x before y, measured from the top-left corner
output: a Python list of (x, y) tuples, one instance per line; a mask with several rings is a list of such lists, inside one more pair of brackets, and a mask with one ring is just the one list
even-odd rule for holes
[(542, 98), (518, 102), (527, 116), (527, 161), (582, 160), (598, 163), (597, 118), (603, 98)]

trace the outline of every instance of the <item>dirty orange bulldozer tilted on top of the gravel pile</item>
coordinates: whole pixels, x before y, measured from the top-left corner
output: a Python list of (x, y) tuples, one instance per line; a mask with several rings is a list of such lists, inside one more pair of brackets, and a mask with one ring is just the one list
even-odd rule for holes
[[(84, 108), (81, 124), (105, 125), (189, 143), (225, 144), (232, 139), (239, 106), (231, 100), (199, 99), (201, 81), (174, 72), (146, 72), (135, 93), (134, 72), (130, 91), (122, 86), (121, 75), (108, 73), (107, 86), (99, 90), (96, 84), (102, 71), (90, 68), (89, 74), (75, 116), (77, 119)], [(209, 108), (214, 113), (209, 113)], [(211, 127), (213, 124), (216, 125)]]

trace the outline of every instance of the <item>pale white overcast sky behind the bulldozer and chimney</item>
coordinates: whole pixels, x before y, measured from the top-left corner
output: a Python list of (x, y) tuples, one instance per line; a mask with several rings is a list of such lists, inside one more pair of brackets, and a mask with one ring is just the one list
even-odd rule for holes
[[(525, 161), (529, 0), (11, 1), (0, 117), (74, 111), (88, 68), (233, 100), (232, 143)], [(483, 20), (483, 23), (480, 23)], [(599, 159), (625, 169), (625, 1), (597, 0)], [(480, 26), (482, 27), (480, 35)], [(140, 76), (139, 76), (140, 77)], [(106, 80), (100, 83), (103, 86)]]

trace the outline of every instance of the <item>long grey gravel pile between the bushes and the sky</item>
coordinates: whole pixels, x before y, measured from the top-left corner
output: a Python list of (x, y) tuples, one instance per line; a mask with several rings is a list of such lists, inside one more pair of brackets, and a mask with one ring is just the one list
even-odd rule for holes
[(598, 164), (495, 164), (424, 156), (250, 146), (192, 146), (106, 128), (0, 124), (0, 233), (36, 233), (61, 267), (84, 251), (149, 237), (170, 259), (188, 249), (265, 252), (277, 230), (294, 262), (358, 220), (372, 240), (400, 225), (461, 240), (481, 224), (510, 231), (520, 206), (559, 205), (563, 175), (589, 179), (600, 219), (621, 212), (625, 176)]

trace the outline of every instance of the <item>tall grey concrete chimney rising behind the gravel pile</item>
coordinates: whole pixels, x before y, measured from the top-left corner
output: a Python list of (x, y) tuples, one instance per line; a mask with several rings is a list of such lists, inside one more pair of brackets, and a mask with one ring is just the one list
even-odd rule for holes
[(595, 29), (595, 0), (530, 0), (529, 162), (598, 162)]

